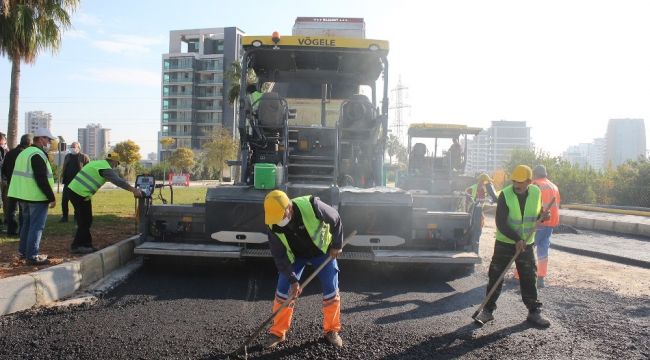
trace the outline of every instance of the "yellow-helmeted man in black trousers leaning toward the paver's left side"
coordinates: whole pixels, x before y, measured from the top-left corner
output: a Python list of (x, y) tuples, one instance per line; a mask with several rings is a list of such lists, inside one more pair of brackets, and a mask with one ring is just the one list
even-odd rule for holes
[(93, 160), (86, 164), (67, 186), (70, 189), (68, 196), (77, 217), (77, 231), (70, 246), (70, 251), (73, 254), (88, 254), (97, 251), (92, 245), (92, 235), (90, 234), (90, 227), (93, 223), (93, 207), (90, 199), (107, 180), (132, 192), (135, 197), (142, 196), (140, 189), (131, 186), (113, 170), (119, 163), (119, 155), (116, 152), (109, 152), (105, 160)]

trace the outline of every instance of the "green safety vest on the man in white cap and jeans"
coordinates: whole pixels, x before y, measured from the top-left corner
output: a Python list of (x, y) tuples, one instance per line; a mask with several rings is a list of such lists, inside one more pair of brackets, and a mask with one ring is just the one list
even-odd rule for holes
[(26, 201), (48, 201), (47, 196), (41, 191), (34, 179), (34, 169), (32, 169), (32, 157), (40, 156), (45, 161), (47, 167), (47, 180), (50, 186), (54, 185), (54, 175), (50, 160), (43, 150), (36, 146), (30, 146), (18, 154), (14, 172), (11, 175), (9, 184), (9, 197), (26, 200)]

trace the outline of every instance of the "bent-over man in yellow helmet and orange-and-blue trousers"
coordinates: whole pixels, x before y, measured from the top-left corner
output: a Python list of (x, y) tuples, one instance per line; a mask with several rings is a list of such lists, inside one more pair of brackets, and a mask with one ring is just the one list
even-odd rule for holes
[(264, 199), (264, 221), (269, 227), (269, 246), (278, 269), (273, 311), (292, 299), (291, 304), (273, 319), (266, 346), (273, 348), (286, 340), (295, 305), (293, 300), (302, 292), (298, 281), (305, 265), (318, 267), (331, 256), (334, 260), (318, 274), (323, 288), (323, 330), (329, 343), (342, 347), (336, 257), (342, 252), (343, 225), (338, 212), (318, 197), (301, 196), (290, 200), (283, 191), (273, 190)]

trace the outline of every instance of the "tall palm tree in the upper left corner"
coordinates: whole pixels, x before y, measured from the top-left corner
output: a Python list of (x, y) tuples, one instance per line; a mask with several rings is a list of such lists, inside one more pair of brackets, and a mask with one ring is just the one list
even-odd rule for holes
[(70, 28), (70, 12), (79, 0), (2, 0), (0, 13), (0, 54), (11, 61), (7, 142), (18, 140), (18, 100), (20, 65), (33, 64), (43, 50), (56, 52), (63, 31)]

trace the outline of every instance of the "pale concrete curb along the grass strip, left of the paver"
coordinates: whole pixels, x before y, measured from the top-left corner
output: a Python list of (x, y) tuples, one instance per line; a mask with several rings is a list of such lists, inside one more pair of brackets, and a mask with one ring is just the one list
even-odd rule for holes
[(127, 264), (139, 238), (134, 235), (73, 261), (0, 279), (0, 316), (46, 305), (87, 288)]

